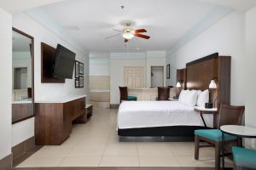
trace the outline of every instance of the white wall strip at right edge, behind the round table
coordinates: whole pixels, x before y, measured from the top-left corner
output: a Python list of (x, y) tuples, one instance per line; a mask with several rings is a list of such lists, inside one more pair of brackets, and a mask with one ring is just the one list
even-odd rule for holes
[[(246, 14), (246, 46), (247, 46), (247, 54), (245, 59), (246, 67), (244, 67), (246, 71), (245, 77), (245, 87), (244, 90), (246, 92), (246, 114), (245, 114), (245, 122), (247, 126), (256, 127), (256, 91), (255, 91), (255, 75), (256, 75), (256, 8), (252, 8), (247, 11)], [(241, 68), (242, 69), (242, 68)], [(248, 145), (256, 148), (255, 140), (251, 140), (248, 142)], [(253, 144), (254, 143), (254, 144)]]

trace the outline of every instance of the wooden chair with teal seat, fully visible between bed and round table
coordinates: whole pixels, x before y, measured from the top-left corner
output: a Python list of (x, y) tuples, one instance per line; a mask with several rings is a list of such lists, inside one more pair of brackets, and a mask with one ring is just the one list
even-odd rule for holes
[[(217, 120), (218, 129), (195, 130), (195, 159), (199, 159), (199, 149), (201, 147), (209, 146), (201, 145), (200, 142), (207, 142), (210, 146), (212, 145), (215, 147), (215, 168), (219, 169), (222, 142), (222, 133), (219, 130), (219, 127), (222, 125), (241, 125), (243, 114), (244, 106), (220, 105)], [(235, 136), (224, 134), (224, 137), (225, 143), (236, 143), (237, 145), (241, 145), (241, 139), (237, 139)]]

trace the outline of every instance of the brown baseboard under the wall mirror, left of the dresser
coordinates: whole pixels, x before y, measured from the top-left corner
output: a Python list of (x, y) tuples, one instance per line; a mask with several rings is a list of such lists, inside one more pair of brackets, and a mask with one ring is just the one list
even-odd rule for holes
[(35, 137), (33, 136), (30, 139), (26, 139), (12, 147), (13, 160), (16, 161), (20, 156), (26, 154), (26, 152), (33, 150), (35, 148)]

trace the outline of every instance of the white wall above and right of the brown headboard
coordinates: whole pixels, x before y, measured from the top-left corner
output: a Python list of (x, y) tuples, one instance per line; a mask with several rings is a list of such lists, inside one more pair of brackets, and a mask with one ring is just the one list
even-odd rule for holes
[[(200, 36), (187, 42), (171, 55), (169, 61), (176, 60), (176, 68), (185, 68), (189, 61), (199, 59), (208, 54), (218, 52), (220, 55), (230, 55), (231, 58), (231, 104), (244, 105), (245, 70), (245, 14), (232, 12), (219, 20), (212, 27), (202, 32)], [(173, 69), (173, 68), (172, 68)], [(172, 85), (176, 76), (172, 77)], [(169, 81), (170, 83), (170, 81)]]

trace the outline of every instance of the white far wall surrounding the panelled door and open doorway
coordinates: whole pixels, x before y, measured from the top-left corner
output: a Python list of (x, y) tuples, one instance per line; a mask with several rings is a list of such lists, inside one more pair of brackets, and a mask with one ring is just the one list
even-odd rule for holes
[(143, 66), (144, 87), (151, 87), (151, 66), (164, 66), (166, 77), (166, 51), (110, 54), (110, 104), (119, 104), (119, 86), (124, 85), (125, 66)]

